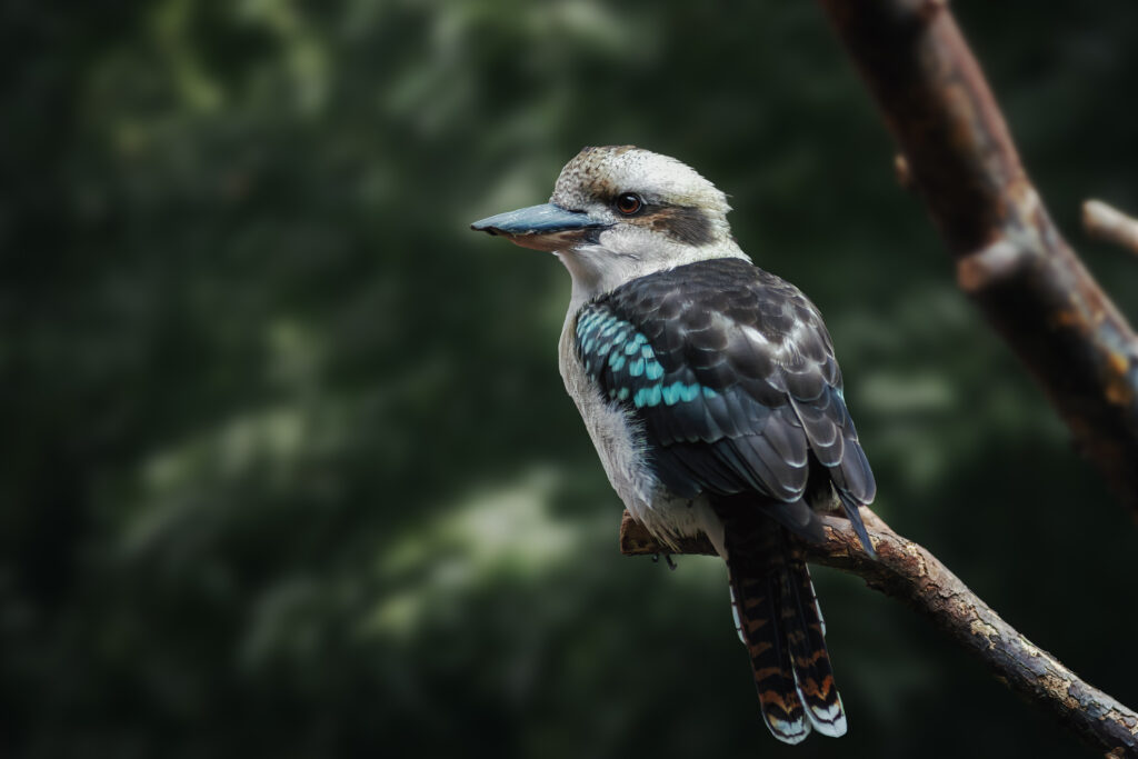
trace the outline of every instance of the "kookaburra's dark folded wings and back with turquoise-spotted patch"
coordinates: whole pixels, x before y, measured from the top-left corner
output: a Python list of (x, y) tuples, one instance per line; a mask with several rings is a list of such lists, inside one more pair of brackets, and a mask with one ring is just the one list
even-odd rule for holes
[(678, 495), (758, 492), (792, 504), (811, 456), (840, 494), (876, 486), (822, 316), (792, 284), (735, 258), (634, 280), (585, 304), (577, 350), (643, 429)]

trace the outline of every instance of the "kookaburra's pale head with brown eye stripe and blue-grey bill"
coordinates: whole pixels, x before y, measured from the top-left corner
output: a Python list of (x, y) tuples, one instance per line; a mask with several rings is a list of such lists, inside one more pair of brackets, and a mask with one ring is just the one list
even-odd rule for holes
[(609, 146), (585, 148), (566, 164), (547, 204), (470, 226), (556, 254), (577, 299), (682, 264), (745, 257), (731, 237), (728, 211), (726, 196), (690, 166)]

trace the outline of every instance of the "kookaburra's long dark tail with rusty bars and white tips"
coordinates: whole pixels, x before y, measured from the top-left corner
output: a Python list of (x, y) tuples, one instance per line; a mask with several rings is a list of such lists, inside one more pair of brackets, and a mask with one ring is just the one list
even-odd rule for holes
[[(800, 547), (770, 526), (753, 554), (728, 556), (735, 624), (751, 657), (762, 719), (785, 743), (846, 734), (824, 622)], [(737, 551), (737, 548), (736, 548)], [(737, 555), (737, 554), (736, 554)]]

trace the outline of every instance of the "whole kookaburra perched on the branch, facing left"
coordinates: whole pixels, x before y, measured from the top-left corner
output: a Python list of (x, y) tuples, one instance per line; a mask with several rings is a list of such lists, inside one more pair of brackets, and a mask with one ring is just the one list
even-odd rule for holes
[(841, 736), (805, 544), (876, 482), (818, 308), (756, 266), (727, 196), (635, 146), (586, 147), (547, 204), (471, 224), (569, 270), (559, 369), (625, 508), (663, 545), (707, 536), (770, 733)]

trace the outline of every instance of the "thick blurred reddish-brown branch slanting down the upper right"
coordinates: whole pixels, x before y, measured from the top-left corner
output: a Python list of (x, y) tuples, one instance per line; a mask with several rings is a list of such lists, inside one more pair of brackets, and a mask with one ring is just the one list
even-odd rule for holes
[(956, 259), (1138, 517), (1138, 338), (1055, 228), (945, 0), (819, 0)]

